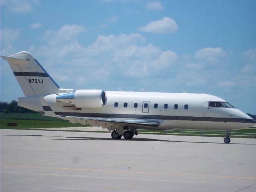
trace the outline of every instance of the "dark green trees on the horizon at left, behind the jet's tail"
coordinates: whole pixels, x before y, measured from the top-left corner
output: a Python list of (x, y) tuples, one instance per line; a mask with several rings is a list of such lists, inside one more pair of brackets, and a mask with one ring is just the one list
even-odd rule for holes
[(30, 109), (18, 106), (18, 102), (13, 100), (10, 103), (0, 101), (0, 112), (2, 113), (36, 113)]

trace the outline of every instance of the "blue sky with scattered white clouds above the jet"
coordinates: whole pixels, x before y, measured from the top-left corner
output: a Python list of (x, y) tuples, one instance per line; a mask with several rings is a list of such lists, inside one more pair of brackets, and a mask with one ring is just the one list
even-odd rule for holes
[[(206, 93), (256, 114), (254, 0), (2, 0), (1, 55), (62, 88)], [(23, 96), (1, 60), (1, 101)]]

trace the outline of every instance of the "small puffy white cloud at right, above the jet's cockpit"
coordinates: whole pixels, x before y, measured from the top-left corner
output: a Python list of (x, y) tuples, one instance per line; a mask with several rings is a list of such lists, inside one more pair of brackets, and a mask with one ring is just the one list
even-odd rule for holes
[(194, 58), (204, 62), (216, 62), (218, 58), (226, 56), (222, 48), (203, 48), (195, 52)]

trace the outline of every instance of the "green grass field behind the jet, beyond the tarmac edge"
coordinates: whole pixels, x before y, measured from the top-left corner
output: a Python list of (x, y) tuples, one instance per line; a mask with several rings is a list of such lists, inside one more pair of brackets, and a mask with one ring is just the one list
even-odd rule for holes
[[(10, 127), (8, 123), (16, 123), (17, 126)], [(90, 125), (87, 125), (90, 126)], [(67, 128), (67, 127), (84, 127), (80, 123), (72, 124), (60, 118), (47, 117), (39, 113), (34, 114), (4, 114), (0, 113), (1, 129), (42, 129), (42, 128)], [(169, 130), (169, 131), (151, 131), (138, 130), (143, 134), (170, 134), (186, 136), (215, 136), (223, 137), (224, 131), (202, 131), (202, 130)], [(233, 130), (232, 137), (256, 138), (256, 128)]]

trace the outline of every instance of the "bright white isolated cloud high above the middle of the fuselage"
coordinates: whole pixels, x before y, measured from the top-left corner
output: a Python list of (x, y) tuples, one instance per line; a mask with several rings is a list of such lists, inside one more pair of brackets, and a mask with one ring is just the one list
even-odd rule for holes
[(174, 33), (178, 30), (178, 25), (171, 18), (164, 17), (161, 20), (149, 22), (146, 26), (138, 28), (138, 30), (157, 34)]

